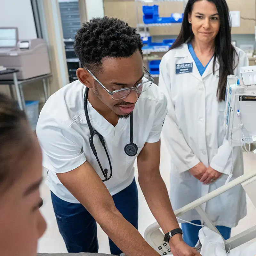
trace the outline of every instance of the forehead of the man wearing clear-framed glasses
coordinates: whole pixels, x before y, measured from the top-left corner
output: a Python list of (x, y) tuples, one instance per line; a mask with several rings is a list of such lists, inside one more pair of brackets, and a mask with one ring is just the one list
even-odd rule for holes
[(100, 82), (134, 84), (143, 74), (143, 58), (139, 51), (128, 58), (106, 58), (102, 71), (97, 75)]

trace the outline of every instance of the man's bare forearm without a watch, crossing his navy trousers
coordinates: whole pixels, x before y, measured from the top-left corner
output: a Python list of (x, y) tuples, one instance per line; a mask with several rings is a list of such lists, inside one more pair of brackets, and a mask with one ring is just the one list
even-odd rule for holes
[(116, 212), (106, 211), (96, 221), (116, 246), (126, 255), (159, 256), (143, 239), (138, 230), (125, 220), (117, 210)]

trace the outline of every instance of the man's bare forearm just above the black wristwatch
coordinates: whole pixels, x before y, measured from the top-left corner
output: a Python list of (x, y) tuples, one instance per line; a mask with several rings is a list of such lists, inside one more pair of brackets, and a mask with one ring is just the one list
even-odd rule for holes
[(139, 175), (139, 183), (150, 211), (163, 229), (163, 232), (167, 233), (172, 229), (179, 228), (172, 210), (167, 188), (160, 173), (155, 175)]

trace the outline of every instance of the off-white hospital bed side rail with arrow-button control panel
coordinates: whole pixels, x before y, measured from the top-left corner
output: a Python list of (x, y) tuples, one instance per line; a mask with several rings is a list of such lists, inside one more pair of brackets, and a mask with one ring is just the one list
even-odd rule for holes
[[(186, 206), (174, 211), (176, 217), (180, 217), (182, 214), (195, 209), (198, 214), (201, 216), (201, 219), (204, 222), (204, 225), (207, 226), (210, 230), (220, 235), (219, 231), (216, 229), (216, 227), (212, 224), (212, 221), (209, 220), (206, 212), (202, 209), (201, 205), (206, 203), (207, 201), (211, 200), (212, 198), (219, 196), (220, 194), (226, 192), (227, 190), (234, 188), (237, 185), (242, 185), (244, 188), (247, 196), (252, 200), (252, 203), (256, 207), (256, 196), (255, 196), (255, 188), (256, 188), (256, 171), (248, 172), (235, 180), (230, 181), (226, 185), (212, 191), (211, 193), (197, 199), (196, 201), (187, 204)], [(221, 236), (221, 235), (220, 235)], [(151, 245), (160, 255), (168, 255), (171, 254), (169, 244), (164, 242), (164, 233), (160, 230), (160, 226), (157, 222), (150, 225), (144, 234), (145, 240), (148, 242), (148, 244)], [(221, 236), (222, 238), (222, 236)], [(226, 252), (229, 252), (230, 250), (245, 244), (252, 239), (256, 238), (256, 226), (249, 228), (245, 230), (244, 232), (231, 237), (228, 240), (224, 240), (223, 242), (225, 245)], [(254, 244), (255, 247), (255, 253), (253, 255), (256, 256), (256, 244)], [(202, 253), (202, 252), (201, 252)], [(210, 255), (210, 252), (202, 256), (208, 256)], [(211, 254), (215, 255), (215, 254)], [(219, 254), (216, 254), (216, 256), (219, 256)], [(227, 255), (226, 253), (224, 255)], [(240, 254), (239, 254), (240, 255)], [(241, 254), (242, 255), (242, 254)], [(245, 255), (244, 255), (245, 256)]]

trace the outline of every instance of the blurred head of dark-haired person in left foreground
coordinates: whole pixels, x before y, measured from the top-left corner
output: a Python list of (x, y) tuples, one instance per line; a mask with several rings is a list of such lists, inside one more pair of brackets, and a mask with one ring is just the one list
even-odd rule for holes
[(46, 229), (41, 149), (23, 111), (0, 94), (0, 255), (36, 256)]

